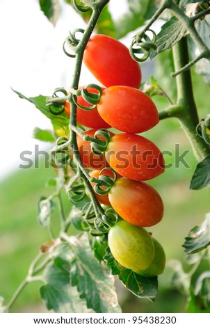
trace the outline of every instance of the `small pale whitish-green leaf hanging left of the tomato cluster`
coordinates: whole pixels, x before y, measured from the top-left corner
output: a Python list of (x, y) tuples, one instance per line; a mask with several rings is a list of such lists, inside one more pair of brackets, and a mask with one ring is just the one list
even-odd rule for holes
[(45, 196), (42, 196), (40, 198), (38, 204), (38, 209), (39, 209), (38, 222), (42, 227), (47, 227), (49, 225), (51, 212), (53, 212), (55, 207), (56, 207), (55, 203), (49, 198), (45, 198)]

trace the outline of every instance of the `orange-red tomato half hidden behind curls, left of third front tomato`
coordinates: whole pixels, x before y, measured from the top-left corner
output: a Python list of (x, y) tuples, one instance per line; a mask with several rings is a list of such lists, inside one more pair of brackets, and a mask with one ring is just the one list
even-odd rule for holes
[[(96, 131), (97, 129), (90, 129), (89, 131), (84, 131), (83, 134), (89, 135), (93, 138)], [(99, 137), (99, 139), (104, 140), (103, 137)], [(76, 136), (76, 140), (79, 148), (79, 155), (85, 168), (102, 170), (103, 168), (108, 167), (105, 155), (97, 156), (92, 153), (90, 141), (83, 141), (83, 138), (80, 136)]]

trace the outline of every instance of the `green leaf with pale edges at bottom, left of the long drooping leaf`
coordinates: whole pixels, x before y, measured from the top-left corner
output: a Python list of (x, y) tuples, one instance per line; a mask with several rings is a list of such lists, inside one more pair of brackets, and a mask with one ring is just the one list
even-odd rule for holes
[(62, 244), (56, 253), (58, 257), (47, 265), (42, 274), (45, 285), (40, 288), (40, 294), (47, 309), (62, 313), (91, 312), (87, 309), (86, 301), (79, 297), (76, 287), (70, 285), (72, 251)]

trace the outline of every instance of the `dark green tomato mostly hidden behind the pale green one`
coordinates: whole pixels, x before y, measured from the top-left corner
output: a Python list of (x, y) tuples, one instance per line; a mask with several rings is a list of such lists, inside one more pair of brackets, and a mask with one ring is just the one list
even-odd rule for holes
[(154, 259), (152, 261), (152, 264), (150, 264), (147, 269), (136, 271), (136, 273), (138, 273), (138, 275), (140, 276), (154, 277), (157, 275), (161, 275), (165, 268), (165, 252), (163, 250), (163, 247), (161, 246), (161, 244), (159, 244), (159, 241), (154, 239), (154, 237), (152, 237), (152, 239), (154, 242)]

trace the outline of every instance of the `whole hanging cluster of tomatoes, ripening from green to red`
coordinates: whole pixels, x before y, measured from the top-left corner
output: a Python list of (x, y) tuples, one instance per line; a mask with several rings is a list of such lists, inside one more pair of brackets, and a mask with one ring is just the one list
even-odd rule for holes
[[(93, 187), (103, 180), (102, 175), (112, 178), (114, 170), (117, 176), (108, 194), (102, 195), (95, 188), (97, 200), (120, 216), (108, 233), (108, 245), (122, 266), (146, 277), (159, 275), (165, 266), (165, 253), (145, 227), (161, 221), (163, 201), (145, 181), (164, 172), (164, 159), (152, 141), (138, 135), (159, 122), (158, 111), (152, 99), (138, 90), (140, 66), (118, 40), (106, 35), (92, 36), (83, 62), (103, 88), (95, 109), (77, 108), (77, 122), (90, 127), (77, 136), (80, 159), (91, 170)], [(95, 88), (87, 90), (97, 93)], [(91, 106), (82, 96), (77, 97), (77, 104)], [(65, 112), (70, 115), (69, 102), (65, 102)], [(90, 140), (105, 142), (103, 134), (96, 136), (97, 129), (110, 127), (119, 132), (110, 132), (104, 152), (93, 153)], [(106, 186), (101, 184), (100, 190), (104, 189)]]

